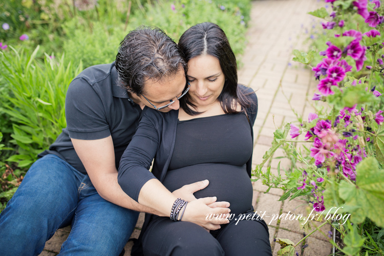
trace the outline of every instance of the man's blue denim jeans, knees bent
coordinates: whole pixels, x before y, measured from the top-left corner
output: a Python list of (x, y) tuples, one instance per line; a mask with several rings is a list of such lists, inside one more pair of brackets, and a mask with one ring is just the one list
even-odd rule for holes
[(38, 255), (68, 225), (59, 255), (119, 255), (138, 215), (102, 199), (88, 175), (47, 155), (31, 166), (0, 215), (0, 255)]

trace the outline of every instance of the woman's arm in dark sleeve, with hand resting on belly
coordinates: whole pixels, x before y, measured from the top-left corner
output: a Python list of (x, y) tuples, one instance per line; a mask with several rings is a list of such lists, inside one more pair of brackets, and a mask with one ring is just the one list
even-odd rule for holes
[[(135, 201), (144, 206), (154, 208), (163, 215), (169, 216), (172, 206), (177, 199), (175, 195), (161, 184), (155, 176), (148, 171), (159, 147), (159, 134), (161, 125), (159, 120), (154, 119), (158, 116), (150, 115), (148, 112), (143, 114), (135, 136), (129, 146), (124, 151), (120, 160), (118, 170), (118, 183), (122, 190)], [(183, 215), (183, 221), (196, 223), (207, 229), (218, 229), (220, 224), (228, 221), (214, 218), (206, 220), (206, 216), (225, 215), (229, 213), (229, 208), (211, 208), (207, 204), (216, 201), (216, 198), (202, 198), (191, 201), (187, 204)], [(223, 203), (221, 204), (223, 206)], [(224, 203), (229, 207), (229, 203)]]

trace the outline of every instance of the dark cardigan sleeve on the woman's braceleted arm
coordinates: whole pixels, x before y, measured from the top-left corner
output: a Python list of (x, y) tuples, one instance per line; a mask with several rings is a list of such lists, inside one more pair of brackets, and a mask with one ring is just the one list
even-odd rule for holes
[(148, 180), (156, 179), (149, 169), (159, 146), (158, 126), (144, 109), (136, 133), (120, 159), (118, 183), (136, 202), (142, 186)]

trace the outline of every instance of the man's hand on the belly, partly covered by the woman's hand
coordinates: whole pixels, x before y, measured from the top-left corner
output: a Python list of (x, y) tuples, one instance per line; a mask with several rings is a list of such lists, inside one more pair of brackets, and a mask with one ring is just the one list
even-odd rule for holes
[[(208, 186), (208, 184), (209, 184), (208, 180), (198, 181), (195, 183), (184, 185), (181, 188), (173, 191), (172, 194), (178, 198), (181, 198), (183, 200), (191, 202), (191, 201), (197, 200), (196, 197), (194, 196), (194, 193), (196, 191), (199, 191), (201, 189), (206, 188)], [(207, 206), (209, 206), (211, 208), (216, 208), (216, 207), (228, 208), (229, 203), (228, 202), (214, 202), (214, 203), (207, 204)]]

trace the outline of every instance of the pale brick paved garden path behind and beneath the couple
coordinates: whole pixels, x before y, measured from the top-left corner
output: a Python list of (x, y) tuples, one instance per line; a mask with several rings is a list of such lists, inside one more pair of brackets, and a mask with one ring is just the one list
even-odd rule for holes
[[(305, 33), (311, 26), (312, 17), (306, 14), (308, 11), (318, 8), (316, 0), (259, 0), (252, 2), (251, 21), (248, 30), (248, 45), (242, 57), (243, 68), (239, 70), (239, 82), (257, 91), (259, 98), (259, 113), (254, 130), (253, 164), (260, 163), (262, 157), (271, 146), (275, 126), (279, 127), (283, 122), (295, 121), (292, 108), (304, 117), (311, 112), (311, 106), (307, 101), (313, 96), (316, 82), (312, 72), (302, 65), (292, 62), (293, 49), (305, 49), (303, 41), (308, 37)], [(225, 30), (225, 28), (224, 28)], [(274, 116), (274, 122), (273, 122)], [(299, 137), (299, 140), (302, 140)], [(283, 151), (276, 151), (274, 157), (284, 156)], [(288, 164), (286, 159), (272, 160), (271, 170), (276, 172), (279, 161), (281, 166)], [(267, 187), (260, 181), (253, 184), (253, 205), (256, 210), (267, 211), (271, 214), (284, 212), (302, 213), (306, 215), (305, 201), (292, 200), (282, 203), (278, 201), (283, 191), (270, 189), (264, 193)], [(288, 238), (297, 243), (303, 236), (303, 230), (298, 227), (297, 221), (280, 222), (271, 221), (269, 233), (273, 255), (277, 254), (280, 245), (273, 242), (274, 238)], [(140, 215), (136, 229), (132, 237), (138, 237), (143, 222), (143, 214)], [(330, 226), (327, 224), (323, 231), (327, 233)], [(70, 228), (58, 230), (53, 238), (46, 243), (44, 251), (40, 255), (56, 255), (63, 241), (68, 237)], [(331, 253), (331, 245), (325, 241), (322, 234), (316, 232), (306, 239), (308, 247), (302, 250), (297, 248), (298, 255), (326, 256)], [(130, 255), (132, 242), (125, 246), (125, 254)]]

